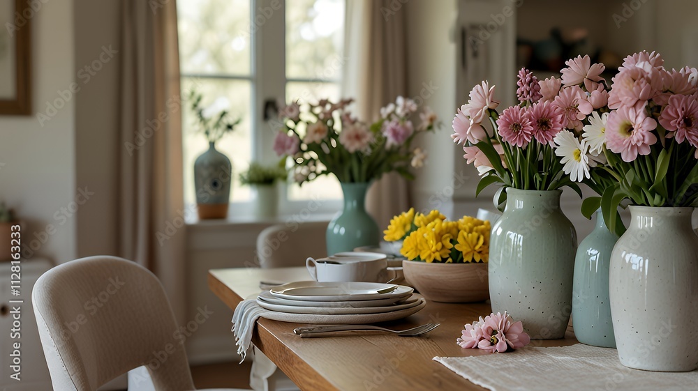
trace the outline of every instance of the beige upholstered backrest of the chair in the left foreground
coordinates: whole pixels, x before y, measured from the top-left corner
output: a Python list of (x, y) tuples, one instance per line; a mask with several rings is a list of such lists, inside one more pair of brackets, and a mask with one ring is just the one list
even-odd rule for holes
[(114, 256), (52, 268), (31, 293), (54, 390), (94, 391), (145, 365), (156, 390), (193, 390), (184, 339), (163, 286)]

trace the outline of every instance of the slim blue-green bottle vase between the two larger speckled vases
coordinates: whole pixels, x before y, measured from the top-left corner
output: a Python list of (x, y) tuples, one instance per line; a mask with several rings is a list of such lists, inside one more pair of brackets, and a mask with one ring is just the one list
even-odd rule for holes
[(618, 236), (609, 231), (601, 210), (596, 211), (596, 227), (579, 243), (574, 261), (572, 325), (582, 344), (615, 348), (616, 337), (609, 301), (611, 252)]

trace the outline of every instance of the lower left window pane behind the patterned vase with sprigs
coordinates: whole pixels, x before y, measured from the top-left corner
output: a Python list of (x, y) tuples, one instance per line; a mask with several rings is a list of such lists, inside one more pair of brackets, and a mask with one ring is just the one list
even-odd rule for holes
[[(224, 153), (232, 162), (232, 190), (231, 201), (248, 201), (251, 199), (249, 187), (242, 187), (239, 183), (239, 173), (248, 167), (252, 158), (252, 137), (250, 135), (250, 101), (251, 82), (248, 80), (221, 80), (221, 79), (192, 79), (182, 78), (182, 96), (187, 97), (192, 89), (203, 95), (205, 107), (212, 105), (216, 100), (216, 107), (226, 108), (232, 114), (232, 118), (242, 116), (242, 122), (235, 130), (225, 135), (216, 143), (216, 149)], [(228, 102), (228, 105), (225, 105)], [(194, 191), (194, 161), (208, 149), (206, 137), (199, 133), (198, 121), (191, 111), (189, 102), (183, 103), (184, 133), (184, 201), (186, 204), (196, 202)]]

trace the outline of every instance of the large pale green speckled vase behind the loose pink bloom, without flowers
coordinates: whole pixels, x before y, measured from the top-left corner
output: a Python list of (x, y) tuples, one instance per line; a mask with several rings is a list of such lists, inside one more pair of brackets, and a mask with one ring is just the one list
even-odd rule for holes
[(565, 336), (572, 312), (577, 232), (560, 210), (562, 190), (507, 188), (507, 206), (492, 227), (489, 297), (532, 339)]

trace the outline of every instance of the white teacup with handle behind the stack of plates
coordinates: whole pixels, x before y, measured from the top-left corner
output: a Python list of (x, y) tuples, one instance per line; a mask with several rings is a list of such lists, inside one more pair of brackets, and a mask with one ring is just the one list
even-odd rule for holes
[(339, 252), (327, 258), (306, 260), (311, 277), (319, 282), (388, 282), (398, 275), (388, 268), (385, 254)]

